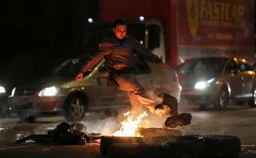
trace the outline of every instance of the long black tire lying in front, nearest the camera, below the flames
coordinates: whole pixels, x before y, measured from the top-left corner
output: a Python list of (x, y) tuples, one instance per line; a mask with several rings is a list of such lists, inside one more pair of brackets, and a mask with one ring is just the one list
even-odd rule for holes
[(197, 136), (154, 136), (143, 143), (111, 145), (109, 157), (204, 157), (205, 140)]

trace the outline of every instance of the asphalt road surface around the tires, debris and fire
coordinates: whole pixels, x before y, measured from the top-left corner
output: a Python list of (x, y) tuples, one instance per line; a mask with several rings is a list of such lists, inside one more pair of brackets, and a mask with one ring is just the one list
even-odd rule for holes
[[(231, 135), (241, 140), (242, 150), (239, 157), (256, 157), (248, 150), (256, 151), (256, 108), (230, 105), (225, 110), (199, 111), (197, 106), (179, 103), (179, 113), (191, 113), (191, 124), (177, 127), (183, 135)], [(118, 118), (107, 117), (103, 113), (87, 113), (82, 123), (88, 132), (110, 135), (118, 130)], [(161, 127), (165, 118), (150, 119), (150, 127)], [(47, 134), (54, 127), (66, 120), (59, 117), (39, 117), (33, 123), (23, 123), (15, 115), (0, 119), (0, 157), (106, 157), (99, 150), (100, 143), (85, 145), (57, 145), (27, 142), (18, 144), (15, 140), (32, 134)], [(71, 124), (72, 122), (67, 122)]]

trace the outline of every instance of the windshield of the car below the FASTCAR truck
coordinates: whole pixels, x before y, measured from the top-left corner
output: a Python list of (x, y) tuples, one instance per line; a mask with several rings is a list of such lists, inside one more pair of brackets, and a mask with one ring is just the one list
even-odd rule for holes
[(217, 73), (220, 74), (225, 65), (225, 58), (191, 59), (177, 67), (179, 74), (186, 73)]

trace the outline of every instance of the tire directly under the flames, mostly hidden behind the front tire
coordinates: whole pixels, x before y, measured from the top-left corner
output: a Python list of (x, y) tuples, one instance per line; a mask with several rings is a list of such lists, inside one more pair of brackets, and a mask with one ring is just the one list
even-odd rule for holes
[(113, 144), (117, 143), (137, 143), (142, 140), (142, 137), (133, 136), (103, 136), (101, 138), (101, 155), (109, 155), (109, 148)]

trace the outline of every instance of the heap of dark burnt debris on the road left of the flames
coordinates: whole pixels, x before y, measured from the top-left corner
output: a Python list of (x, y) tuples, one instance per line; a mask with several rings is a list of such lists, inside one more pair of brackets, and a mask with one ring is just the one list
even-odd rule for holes
[(68, 124), (66, 122), (58, 124), (53, 131), (48, 134), (34, 134), (16, 140), (16, 143), (26, 143), (33, 141), (36, 143), (57, 143), (57, 144), (74, 144), (84, 145), (86, 143), (99, 143), (101, 134), (89, 134), (87, 128), (82, 123)]

